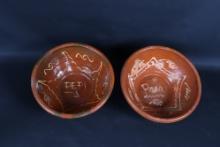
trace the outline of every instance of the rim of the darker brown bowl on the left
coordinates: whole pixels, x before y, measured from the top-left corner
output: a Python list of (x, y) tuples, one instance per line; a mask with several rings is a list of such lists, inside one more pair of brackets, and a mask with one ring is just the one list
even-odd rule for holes
[[(47, 58), (47, 56), (49, 56), (50, 54), (52, 54), (60, 49), (63, 49), (66, 47), (72, 47), (72, 46), (73, 47), (79, 46), (79, 47), (87, 48), (87, 49), (97, 53), (101, 57), (103, 57), (106, 60), (106, 62), (108, 63), (109, 70), (110, 70), (109, 72), (111, 73), (110, 74), (111, 80), (110, 80), (110, 86), (109, 86), (110, 90), (108, 91), (107, 95), (96, 106), (92, 107), (91, 109), (89, 109), (85, 112), (81, 112), (81, 113), (77, 113), (77, 114), (62, 113), (62, 112), (58, 112), (52, 108), (49, 108), (46, 104), (44, 104), (42, 102), (40, 96), (37, 93), (36, 86), (35, 86), (35, 77), (37, 74), (38, 67), (42, 63), (42, 61), (44, 61), (44, 59)], [(92, 114), (92, 113), (96, 112), (97, 110), (99, 110), (107, 102), (107, 100), (110, 98), (112, 91), (113, 91), (113, 88), (114, 88), (114, 83), (115, 83), (114, 70), (113, 70), (112, 64), (109, 61), (109, 59), (107, 58), (107, 56), (105, 54), (103, 54), (101, 51), (99, 51), (97, 48), (90, 46), (90, 45), (87, 45), (87, 44), (84, 44), (84, 43), (68, 42), (68, 43), (63, 43), (61, 45), (57, 45), (57, 46), (49, 49), (47, 52), (45, 52), (43, 54), (43, 56), (40, 59), (38, 59), (38, 61), (36, 62), (36, 64), (33, 67), (32, 73), (31, 73), (31, 89), (32, 89), (33, 96), (34, 96), (35, 100), (37, 101), (37, 103), (49, 114), (52, 114), (54, 116), (57, 116), (57, 117), (63, 118), (63, 119), (80, 118), (80, 117)]]

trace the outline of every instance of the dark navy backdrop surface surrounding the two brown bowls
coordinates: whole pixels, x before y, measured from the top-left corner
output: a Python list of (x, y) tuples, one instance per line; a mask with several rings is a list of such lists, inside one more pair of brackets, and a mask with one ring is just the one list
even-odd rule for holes
[[(0, 147), (219, 147), (219, 7), (219, 0), (1, 0)], [(38, 106), (30, 77), (48, 48), (69, 41), (100, 48), (116, 86), (97, 113), (66, 121)], [(153, 44), (184, 53), (202, 78), (201, 103), (177, 124), (144, 120), (121, 93), (125, 59)]]

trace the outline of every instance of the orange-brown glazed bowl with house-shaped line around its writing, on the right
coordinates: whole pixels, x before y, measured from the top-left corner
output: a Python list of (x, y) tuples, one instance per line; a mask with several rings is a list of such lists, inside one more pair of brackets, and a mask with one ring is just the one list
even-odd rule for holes
[(146, 47), (131, 55), (121, 73), (121, 86), (137, 113), (160, 123), (186, 118), (201, 96), (200, 77), (192, 63), (163, 46)]

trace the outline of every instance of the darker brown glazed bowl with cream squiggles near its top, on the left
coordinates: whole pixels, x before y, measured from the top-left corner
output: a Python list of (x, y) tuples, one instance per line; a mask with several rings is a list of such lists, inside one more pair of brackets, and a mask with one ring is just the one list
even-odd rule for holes
[(113, 85), (108, 59), (97, 49), (77, 43), (51, 49), (35, 65), (31, 77), (37, 102), (61, 118), (95, 112), (107, 101)]

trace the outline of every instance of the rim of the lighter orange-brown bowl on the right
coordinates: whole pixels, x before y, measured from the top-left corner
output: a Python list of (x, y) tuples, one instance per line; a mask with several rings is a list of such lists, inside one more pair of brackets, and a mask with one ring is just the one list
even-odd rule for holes
[[(196, 81), (197, 81), (197, 85), (198, 85), (198, 92), (197, 92), (197, 97), (195, 102), (193, 103), (192, 107), (187, 110), (185, 113), (183, 113), (180, 116), (176, 116), (176, 117), (172, 117), (172, 118), (160, 118), (160, 117), (156, 117), (156, 116), (152, 116), (150, 114), (148, 114), (147, 112), (143, 112), (141, 109), (139, 109), (131, 100), (130, 100), (130, 96), (128, 95), (128, 93), (126, 92), (127, 90), (125, 90), (125, 81), (123, 80), (123, 76), (126, 74), (126, 66), (128, 65), (129, 60), (137, 55), (140, 54), (142, 52), (146, 52), (149, 50), (165, 50), (168, 52), (172, 52), (176, 55), (178, 55), (179, 57), (181, 57), (184, 61), (186, 61), (186, 63), (189, 65), (189, 67), (193, 70), (195, 76), (196, 76)], [(195, 109), (197, 108), (197, 106), (199, 105), (199, 102), (201, 100), (201, 95), (202, 95), (202, 83), (201, 83), (201, 79), (199, 76), (199, 72), (197, 71), (196, 67), (192, 64), (192, 62), (185, 57), (181, 52), (170, 48), (170, 47), (166, 47), (166, 46), (161, 46), (161, 45), (150, 45), (150, 46), (146, 46), (143, 47), (135, 52), (133, 52), (125, 61), (123, 68), (121, 70), (121, 78), (120, 78), (120, 83), (121, 83), (121, 89), (122, 89), (122, 93), (124, 94), (124, 97), (127, 101), (127, 103), (131, 106), (131, 108), (136, 111), (139, 115), (141, 115), (142, 117), (144, 117), (145, 119), (151, 120), (153, 122), (156, 123), (175, 123), (175, 122), (179, 122), (185, 118), (187, 118), (189, 115), (192, 114), (193, 111), (195, 111)]]

